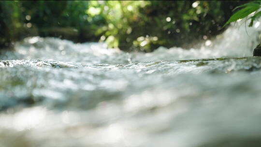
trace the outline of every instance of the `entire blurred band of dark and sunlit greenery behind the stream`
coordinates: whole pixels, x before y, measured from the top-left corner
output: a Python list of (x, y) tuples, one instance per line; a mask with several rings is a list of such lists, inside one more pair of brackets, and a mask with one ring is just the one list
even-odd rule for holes
[(29, 36), (106, 42), (125, 51), (191, 47), (211, 39), (249, 1), (0, 1), (0, 48)]

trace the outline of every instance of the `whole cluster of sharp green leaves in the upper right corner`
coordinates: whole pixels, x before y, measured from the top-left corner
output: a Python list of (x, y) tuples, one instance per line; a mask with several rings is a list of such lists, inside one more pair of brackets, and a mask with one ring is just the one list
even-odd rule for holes
[(236, 10), (238, 8), (243, 8), (243, 9), (234, 13), (229, 18), (229, 20), (225, 23), (224, 26), (230, 24), (231, 22), (237, 21), (238, 19), (245, 18), (248, 15), (250, 15), (251, 13), (255, 12), (255, 14), (250, 17), (251, 21), (250, 21), (248, 26), (251, 27), (253, 25), (253, 21), (258, 19), (261, 16), (261, 11), (256, 12), (259, 8), (261, 8), (261, 1), (260, 0), (249, 2), (249, 3), (243, 4), (243, 5), (237, 6), (234, 10)]

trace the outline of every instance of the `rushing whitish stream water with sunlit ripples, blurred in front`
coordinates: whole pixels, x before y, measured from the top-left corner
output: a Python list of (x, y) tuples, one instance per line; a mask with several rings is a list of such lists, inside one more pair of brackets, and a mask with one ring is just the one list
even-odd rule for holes
[(18, 42), (0, 56), (0, 147), (260, 147), (259, 25), (152, 53)]

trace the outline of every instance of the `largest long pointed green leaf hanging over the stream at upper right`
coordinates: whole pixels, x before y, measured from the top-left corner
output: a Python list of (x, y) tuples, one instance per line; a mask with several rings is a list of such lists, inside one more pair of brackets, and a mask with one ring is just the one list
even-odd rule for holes
[(260, 7), (258, 4), (258, 5), (253, 5), (253, 6), (247, 6), (246, 8), (239, 10), (238, 12), (236, 12), (229, 18), (229, 20), (225, 23), (225, 25), (223, 27), (225, 27), (226, 25), (228, 25), (231, 22), (237, 21), (238, 19), (241, 19), (241, 18), (244, 18), (244, 17), (250, 15), (252, 12), (258, 10), (259, 8)]

